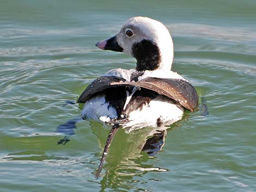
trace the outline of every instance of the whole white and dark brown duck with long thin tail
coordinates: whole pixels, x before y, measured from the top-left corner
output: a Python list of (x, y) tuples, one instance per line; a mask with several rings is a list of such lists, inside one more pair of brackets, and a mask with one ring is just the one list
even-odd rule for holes
[(173, 40), (160, 21), (132, 17), (117, 35), (97, 42), (96, 46), (136, 59), (135, 69), (106, 72), (90, 83), (77, 100), (84, 103), (83, 119), (112, 125), (97, 177), (119, 127), (129, 128), (130, 132), (170, 125), (181, 120), (185, 110), (196, 110), (198, 94), (187, 79), (172, 71)]

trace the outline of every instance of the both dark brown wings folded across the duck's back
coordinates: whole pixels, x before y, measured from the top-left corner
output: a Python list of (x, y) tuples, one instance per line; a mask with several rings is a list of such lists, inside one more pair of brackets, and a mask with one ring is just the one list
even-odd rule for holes
[(89, 100), (95, 94), (117, 86), (137, 86), (157, 92), (160, 95), (167, 96), (181, 104), (192, 112), (198, 105), (197, 91), (193, 86), (182, 79), (161, 79), (148, 77), (138, 82), (127, 82), (124, 78), (114, 76), (102, 76), (88, 85), (86, 90), (78, 98), (78, 103)]

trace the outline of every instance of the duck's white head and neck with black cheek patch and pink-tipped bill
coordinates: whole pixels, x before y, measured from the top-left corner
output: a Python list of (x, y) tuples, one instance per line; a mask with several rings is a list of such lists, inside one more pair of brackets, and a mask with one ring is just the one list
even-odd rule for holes
[(173, 41), (168, 29), (148, 17), (127, 20), (112, 38), (97, 42), (104, 50), (124, 52), (137, 60), (136, 70), (170, 70), (173, 62)]

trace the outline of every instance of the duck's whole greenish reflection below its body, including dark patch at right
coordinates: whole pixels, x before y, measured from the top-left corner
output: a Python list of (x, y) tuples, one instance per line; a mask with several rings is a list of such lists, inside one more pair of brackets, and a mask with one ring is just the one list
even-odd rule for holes
[[(205, 114), (207, 111), (207, 108), (205, 110), (204, 107), (202, 106), (202, 110), (198, 110), (193, 115), (200, 118), (202, 113)], [(133, 132), (129, 132), (129, 128), (119, 129), (107, 155), (106, 164), (103, 168), (105, 171), (101, 173), (99, 178), (100, 191), (106, 191), (106, 189), (131, 190), (137, 188), (135, 183), (145, 184), (145, 182), (134, 179), (135, 176), (140, 177), (148, 172), (170, 171), (168, 165), (156, 167), (154, 164), (149, 164), (148, 161), (155, 158), (157, 152), (162, 149), (167, 132), (172, 135), (172, 130), (177, 129), (190, 116), (191, 113), (187, 112), (181, 121), (171, 126), (162, 127), (161, 131), (159, 131), (159, 127), (147, 127)], [(99, 122), (91, 122), (90, 125), (93, 133), (97, 136), (100, 148), (103, 150), (110, 127), (100, 129), (101, 124)], [(163, 153), (168, 152), (164, 151)], [(101, 153), (96, 154), (96, 156), (100, 159)], [(155, 181), (160, 182), (161, 179), (155, 178)], [(147, 188), (141, 187), (137, 190), (144, 191)]]

